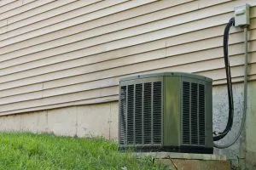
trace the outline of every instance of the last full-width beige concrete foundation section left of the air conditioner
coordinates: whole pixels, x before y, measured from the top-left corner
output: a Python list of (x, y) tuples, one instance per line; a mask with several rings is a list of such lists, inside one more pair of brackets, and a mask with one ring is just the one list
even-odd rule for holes
[(79, 137), (101, 136), (110, 139), (110, 103), (78, 106)]

